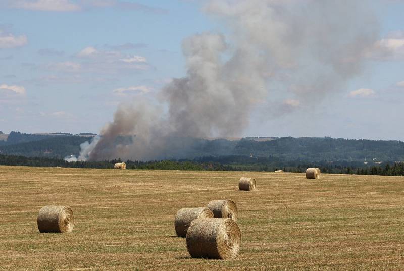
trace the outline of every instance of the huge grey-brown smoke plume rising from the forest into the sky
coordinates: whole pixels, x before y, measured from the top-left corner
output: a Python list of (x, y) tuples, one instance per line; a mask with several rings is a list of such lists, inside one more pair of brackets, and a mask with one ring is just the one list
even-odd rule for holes
[[(185, 39), (186, 76), (161, 90), (160, 104), (120, 105), (99, 140), (83, 151), (90, 160), (175, 158), (186, 155), (181, 138), (242, 133), (256, 105), (271, 100), (270, 89), (293, 97), (278, 112), (321, 101), (362, 70), (365, 52), (377, 40), (378, 24), (366, 3), (206, 2), (204, 12), (224, 23), (228, 34)], [(117, 143), (120, 136), (133, 143)]]

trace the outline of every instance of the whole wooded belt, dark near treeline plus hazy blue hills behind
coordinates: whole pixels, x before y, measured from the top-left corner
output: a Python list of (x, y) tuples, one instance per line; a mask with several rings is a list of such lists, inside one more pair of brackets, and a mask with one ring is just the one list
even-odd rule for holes
[[(80, 152), (80, 144), (93, 134), (24, 134), (11, 132), (0, 140), (0, 165), (113, 168), (111, 161), (67, 162)], [(126, 161), (128, 169), (220, 170), (305, 172), (318, 167), (323, 173), (404, 176), (404, 143), (401, 141), (333, 139), (330, 137), (243, 138), (241, 140), (183, 138), (188, 148), (156, 161)], [(176, 140), (178, 141), (178, 140)], [(125, 143), (126, 142), (126, 143)], [(132, 138), (119, 138), (130, 144)]]

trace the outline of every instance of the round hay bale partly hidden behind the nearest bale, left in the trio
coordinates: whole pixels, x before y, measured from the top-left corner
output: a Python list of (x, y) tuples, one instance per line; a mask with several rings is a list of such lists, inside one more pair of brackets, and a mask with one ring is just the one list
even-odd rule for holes
[(209, 208), (182, 208), (177, 211), (174, 220), (174, 228), (177, 236), (185, 237), (189, 224), (199, 218), (214, 218)]

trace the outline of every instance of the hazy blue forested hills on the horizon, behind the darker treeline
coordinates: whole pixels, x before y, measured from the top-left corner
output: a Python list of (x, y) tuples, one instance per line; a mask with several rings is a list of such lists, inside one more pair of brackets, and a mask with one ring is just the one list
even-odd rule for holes
[[(90, 141), (92, 134), (69, 133), (36, 135), (11, 132), (7, 141), (0, 140), (0, 154), (21, 155), (26, 157), (64, 158), (77, 156), (80, 144)], [(181, 138), (177, 142), (185, 142), (187, 149), (178, 153), (181, 155), (163, 157), (167, 160), (197, 160), (204, 158), (221, 160), (226, 157), (252, 156), (252, 161), (279, 160), (283, 165), (295, 165), (296, 161), (311, 164), (320, 162), (364, 162), (369, 166), (377, 166), (375, 162), (404, 161), (404, 142), (383, 140), (354, 140), (343, 138), (313, 138), (313, 137), (282, 137), (282, 138), (243, 138), (241, 140), (206, 140), (197, 138)], [(120, 138), (119, 144), (130, 144), (132, 139)], [(238, 158), (245, 164), (245, 158)], [(216, 161), (219, 162), (219, 161)], [(223, 164), (220, 162), (220, 164)], [(226, 164), (226, 163), (225, 163)], [(249, 160), (248, 160), (249, 165)], [(271, 167), (273, 164), (270, 164)], [(280, 165), (280, 164), (279, 164)], [(356, 167), (363, 165), (356, 165)]]

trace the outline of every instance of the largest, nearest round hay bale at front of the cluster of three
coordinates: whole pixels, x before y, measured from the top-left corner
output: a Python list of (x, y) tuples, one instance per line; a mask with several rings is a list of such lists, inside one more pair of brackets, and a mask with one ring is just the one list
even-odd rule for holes
[(186, 233), (186, 247), (193, 258), (234, 259), (240, 244), (240, 228), (232, 219), (195, 219)]

